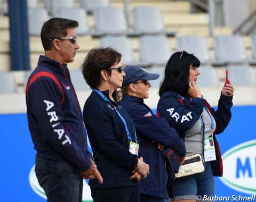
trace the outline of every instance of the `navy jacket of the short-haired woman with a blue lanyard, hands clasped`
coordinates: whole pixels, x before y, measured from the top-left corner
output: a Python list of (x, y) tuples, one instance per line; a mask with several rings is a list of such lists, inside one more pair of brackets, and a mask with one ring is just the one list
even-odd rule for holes
[[(101, 91), (109, 100), (109, 91)], [(116, 97), (115, 92), (113, 97)], [(92, 146), (97, 168), (102, 175), (103, 184), (90, 180), (89, 185), (96, 188), (139, 186), (140, 182), (130, 180), (132, 170), (138, 163), (138, 156), (129, 152), (129, 139), (124, 123), (116, 110), (123, 116), (127, 128), (135, 141), (135, 127), (131, 117), (115, 103), (108, 103), (97, 92), (92, 92), (84, 104), (84, 122)]]

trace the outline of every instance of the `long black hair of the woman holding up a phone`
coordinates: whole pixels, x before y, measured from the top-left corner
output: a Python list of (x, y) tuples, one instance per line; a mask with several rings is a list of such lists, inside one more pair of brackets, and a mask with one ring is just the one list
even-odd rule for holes
[(165, 67), (164, 80), (159, 89), (159, 96), (170, 90), (178, 92), (182, 96), (187, 95), (191, 64), (196, 68), (200, 66), (200, 61), (193, 54), (185, 51), (173, 53)]

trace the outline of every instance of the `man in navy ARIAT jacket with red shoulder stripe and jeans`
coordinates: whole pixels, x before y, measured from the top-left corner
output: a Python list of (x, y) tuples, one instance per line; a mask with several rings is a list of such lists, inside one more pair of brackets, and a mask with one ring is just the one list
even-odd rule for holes
[(87, 149), (83, 117), (67, 63), (74, 61), (77, 21), (53, 18), (41, 30), (45, 55), (26, 87), (35, 172), (47, 201), (82, 202), (83, 178), (102, 178)]

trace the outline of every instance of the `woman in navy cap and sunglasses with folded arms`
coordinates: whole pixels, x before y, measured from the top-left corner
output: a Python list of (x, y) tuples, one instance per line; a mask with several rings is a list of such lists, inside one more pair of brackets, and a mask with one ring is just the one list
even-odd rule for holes
[(171, 148), (184, 161), (186, 149), (177, 132), (169, 127), (167, 121), (157, 117), (143, 102), (149, 97), (149, 81), (159, 78), (159, 74), (146, 72), (141, 66), (126, 66), (126, 76), (122, 86), (122, 101), (119, 103), (132, 117), (135, 124), (139, 155), (149, 164), (150, 174), (142, 180), (140, 201), (163, 202), (169, 198), (166, 190), (166, 172), (161, 150), (163, 146)]

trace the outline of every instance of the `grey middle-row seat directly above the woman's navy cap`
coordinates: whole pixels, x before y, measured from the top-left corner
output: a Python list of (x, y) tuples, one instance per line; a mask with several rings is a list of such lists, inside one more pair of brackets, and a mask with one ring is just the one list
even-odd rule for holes
[(139, 44), (141, 62), (149, 65), (165, 65), (172, 54), (166, 36), (141, 36), (139, 37)]

